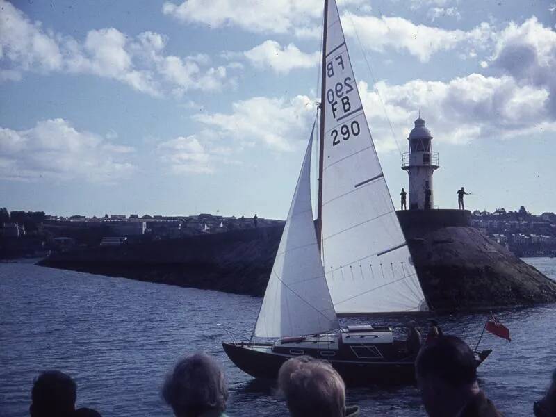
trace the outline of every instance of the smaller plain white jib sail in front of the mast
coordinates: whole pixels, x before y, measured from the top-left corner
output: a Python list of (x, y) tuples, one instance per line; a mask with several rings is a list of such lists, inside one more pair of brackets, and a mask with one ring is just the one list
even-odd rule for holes
[(254, 336), (302, 336), (337, 329), (311, 207), (313, 131), (297, 180)]

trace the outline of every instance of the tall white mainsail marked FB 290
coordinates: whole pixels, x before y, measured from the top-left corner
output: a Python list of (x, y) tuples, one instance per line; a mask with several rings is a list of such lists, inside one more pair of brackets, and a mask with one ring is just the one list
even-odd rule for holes
[(327, 10), (322, 262), (336, 313), (427, 303), (367, 124), (335, 0)]

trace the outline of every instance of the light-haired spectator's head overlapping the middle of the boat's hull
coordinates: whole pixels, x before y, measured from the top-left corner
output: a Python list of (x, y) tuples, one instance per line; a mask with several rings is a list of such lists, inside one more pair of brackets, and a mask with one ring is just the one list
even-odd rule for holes
[(278, 377), (279, 389), (293, 417), (356, 416), (359, 407), (345, 407), (345, 385), (332, 366), (318, 359), (289, 359)]

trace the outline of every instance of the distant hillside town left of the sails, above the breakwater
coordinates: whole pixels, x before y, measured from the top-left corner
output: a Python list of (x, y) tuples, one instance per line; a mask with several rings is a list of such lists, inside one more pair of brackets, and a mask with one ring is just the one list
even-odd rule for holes
[(283, 220), (202, 213), (188, 216), (111, 214), (92, 218), (48, 215), (43, 211), (0, 208), (0, 258), (47, 256), (76, 247), (117, 246), (215, 234), (224, 231), (270, 227)]

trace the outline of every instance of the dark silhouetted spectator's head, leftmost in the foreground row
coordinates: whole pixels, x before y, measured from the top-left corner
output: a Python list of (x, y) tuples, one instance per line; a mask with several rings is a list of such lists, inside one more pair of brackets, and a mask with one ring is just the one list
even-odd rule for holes
[(31, 391), (31, 417), (66, 417), (75, 411), (77, 385), (59, 370), (47, 370), (35, 378)]

